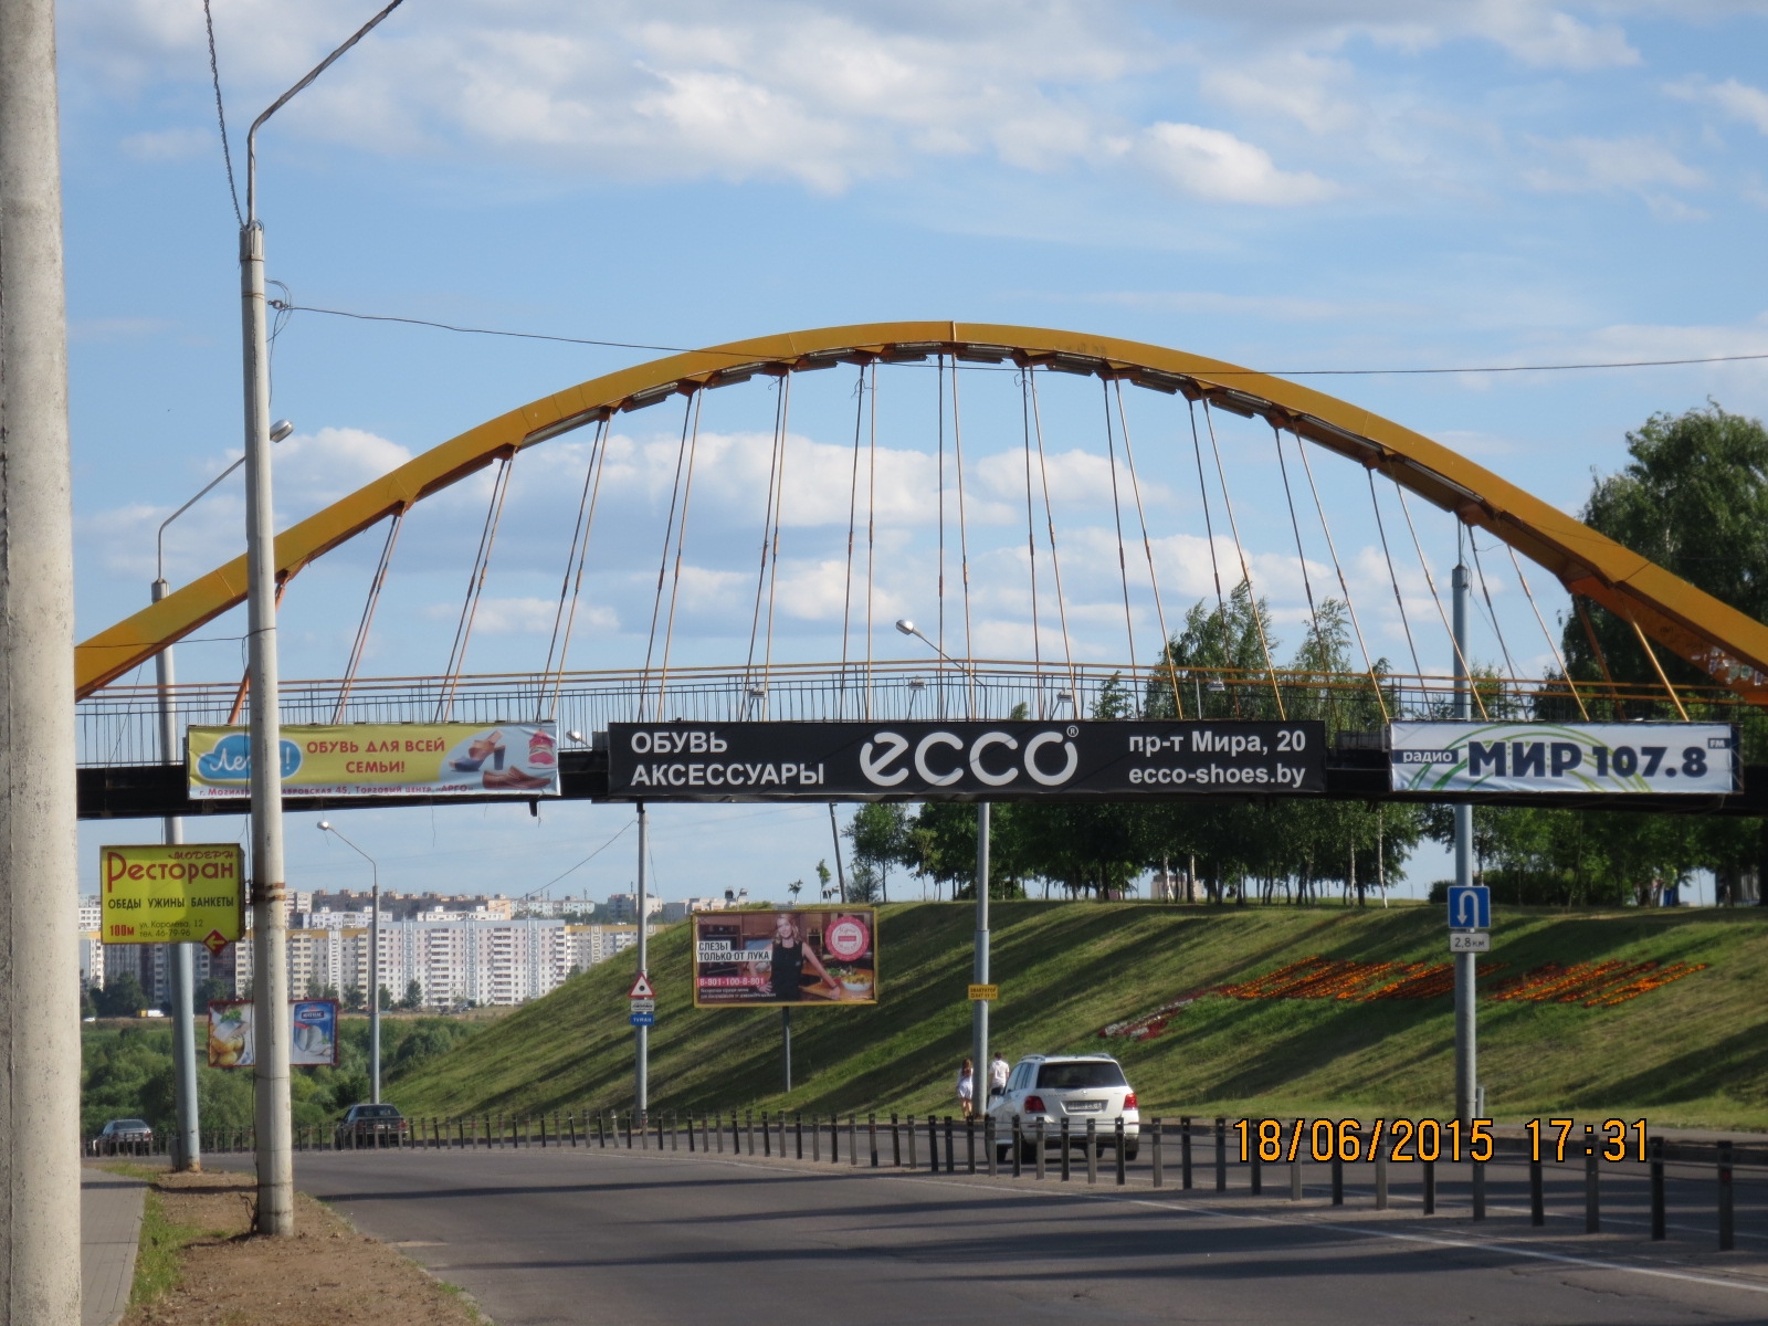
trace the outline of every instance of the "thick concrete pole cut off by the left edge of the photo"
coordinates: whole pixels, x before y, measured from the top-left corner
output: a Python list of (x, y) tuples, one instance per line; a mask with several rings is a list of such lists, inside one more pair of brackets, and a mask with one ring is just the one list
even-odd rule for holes
[(80, 1322), (74, 555), (53, 0), (0, 0), (0, 1326)]

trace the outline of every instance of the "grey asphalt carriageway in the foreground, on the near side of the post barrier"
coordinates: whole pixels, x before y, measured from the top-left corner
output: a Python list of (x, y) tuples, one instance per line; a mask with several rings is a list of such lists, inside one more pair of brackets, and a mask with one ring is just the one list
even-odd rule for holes
[(555, 1147), (301, 1153), (295, 1176), (499, 1326), (1768, 1321), (1761, 1239), (1718, 1254), (1570, 1220), (1535, 1231), (1499, 1204), (1478, 1225), (1406, 1200), (1335, 1209), (1312, 1181), (1292, 1204), (1287, 1185), (1254, 1197)]

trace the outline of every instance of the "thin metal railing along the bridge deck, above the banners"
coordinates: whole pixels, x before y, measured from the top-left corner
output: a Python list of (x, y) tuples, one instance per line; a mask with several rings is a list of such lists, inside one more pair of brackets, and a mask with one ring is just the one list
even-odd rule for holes
[[(1379, 730), (1404, 718), (1448, 718), (1455, 679), (1381, 674), (1167, 668), (1123, 663), (974, 659), (926, 663), (797, 663), (769, 668), (674, 668), (447, 677), (373, 677), (283, 682), (285, 723), (513, 723), (550, 718), (560, 732), (605, 730), (610, 721), (744, 720), (905, 721), (1063, 718), (1319, 718), (1331, 730)], [(1674, 718), (1667, 695), (1646, 686), (1563, 679), (1478, 681), (1490, 718)], [(239, 723), (233, 682), (171, 688), (179, 725)], [(1681, 690), (1706, 718), (1741, 702), (1717, 688)], [(1582, 705), (1579, 704), (1582, 702)], [(108, 686), (78, 704), (83, 766), (159, 764), (159, 697), (152, 686)]]

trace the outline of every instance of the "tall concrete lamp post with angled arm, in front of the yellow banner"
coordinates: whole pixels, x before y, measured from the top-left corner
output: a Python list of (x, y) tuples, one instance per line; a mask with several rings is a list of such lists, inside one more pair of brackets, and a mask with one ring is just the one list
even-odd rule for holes
[(246, 675), (251, 682), (251, 909), (256, 1061), (258, 1232), (295, 1232), (295, 1156), (288, 1107), (288, 918), (283, 914), (283, 766), (276, 659), (276, 522), (271, 502), (271, 334), (258, 221), (258, 129), (362, 41), (392, 0), (279, 95), (246, 133), (246, 217), (239, 230), (240, 359), (246, 384)]

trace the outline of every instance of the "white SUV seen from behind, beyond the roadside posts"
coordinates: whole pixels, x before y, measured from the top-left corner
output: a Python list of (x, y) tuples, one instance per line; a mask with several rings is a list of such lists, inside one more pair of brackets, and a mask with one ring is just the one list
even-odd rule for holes
[(995, 1147), (1002, 1160), (1013, 1149), (1015, 1116), (1024, 1162), (1036, 1160), (1040, 1119), (1045, 1147), (1061, 1147), (1063, 1119), (1068, 1119), (1068, 1146), (1084, 1147), (1087, 1119), (1093, 1119), (1098, 1155), (1117, 1146), (1117, 1119), (1123, 1119), (1124, 1160), (1135, 1160), (1142, 1135), (1135, 1091), (1109, 1054), (1027, 1054), (1008, 1073), (1006, 1091), (988, 1103), (988, 1116), (995, 1123)]

